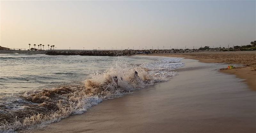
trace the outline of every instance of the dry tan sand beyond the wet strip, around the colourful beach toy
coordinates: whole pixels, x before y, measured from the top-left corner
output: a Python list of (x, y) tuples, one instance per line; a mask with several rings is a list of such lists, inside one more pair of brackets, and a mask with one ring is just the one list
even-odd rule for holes
[(256, 51), (235, 51), (235, 52), (195, 52), (178, 54), (148, 54), (148, 56), (185, 57), (205, 63), (228, 63), (240, 64), (244, 67), (236, 69), (221, 69), (220, 72), (235, 74), (244, 81), (252, 90), (256, 90)]

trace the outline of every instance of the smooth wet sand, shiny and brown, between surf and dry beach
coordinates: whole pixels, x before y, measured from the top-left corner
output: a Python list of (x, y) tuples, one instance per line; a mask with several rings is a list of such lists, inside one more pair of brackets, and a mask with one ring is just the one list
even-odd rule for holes
[(184, 59), (170, 81), (103, 101), (43, 129), (22, 132), (256, 131), (255, 92), (243, 80), (220, 73), (223, 65)]

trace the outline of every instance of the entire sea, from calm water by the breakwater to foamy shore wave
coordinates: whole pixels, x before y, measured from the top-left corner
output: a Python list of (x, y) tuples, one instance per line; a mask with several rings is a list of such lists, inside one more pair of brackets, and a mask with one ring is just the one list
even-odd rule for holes
[[(1, 54), (0, 131), (84, 113), (103, 100), (168, 81), (180, 58)], [(138, 76), (134, 72), (138, 72)]]

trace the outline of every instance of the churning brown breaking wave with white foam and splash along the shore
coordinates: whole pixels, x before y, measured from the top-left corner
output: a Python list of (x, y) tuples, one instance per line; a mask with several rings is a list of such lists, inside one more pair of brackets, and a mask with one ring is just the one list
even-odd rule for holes
[[(162, 58), (145, 64), (118, 60), (104, 72), (89, 75), (81, 85), (45, 88), (0, 97), (0, 132), (34, 128), (81, 114), (103, 100), (112, 99), (156, 82), (168, 81), (173, 70), (184, 66), (178, 58)], [(138, 75), (135, 74), (138, 72)], [(63, 73), (65, 74), (65, 73)]]

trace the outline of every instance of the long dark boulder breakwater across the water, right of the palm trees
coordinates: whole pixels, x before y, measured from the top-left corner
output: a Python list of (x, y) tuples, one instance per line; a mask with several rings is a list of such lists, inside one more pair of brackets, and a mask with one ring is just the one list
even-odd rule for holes
[(150, 53), (191, 53), (203, 50), (183, 50), (183, 49), (163, 49), (163, 50), (52, 50), (47, 51), (48, 55), (89, 55), (89, 56), (124, 56), (134, 54), (150, 54)]

